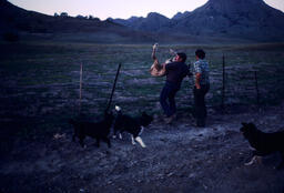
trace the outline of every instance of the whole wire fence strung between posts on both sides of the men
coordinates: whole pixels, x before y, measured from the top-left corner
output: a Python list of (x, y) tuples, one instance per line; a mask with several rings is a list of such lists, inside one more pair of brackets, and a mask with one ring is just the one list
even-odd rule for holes
[[(284, 67), (280, 63), (237, 65), (232, 64), (232, 61), (227, 60), (225, 55), (220, 58), (221, 60), (217, 62), (221, 64), (215, 64), (210, 72), (211, 89), (206, 95), (207, 106), (219, 106), (225, 110), (229, 105), (262, 106), (282, 101), (284, 96)], [(148, 70), (149, 68), (145, 67), (128, 69), (122, 64), (113, 105), (122, 105), (125, 111), (132, 113), (141, 110), (161, 112), (159, 96), (164, 80), (151, 78)], [(84, 82), (83, 93), (85, 96), (83, 98), (88, 98), (87, 92), (92, 93), (89, 94), (91, 98), (83, 102), (87, 113), (91, 106), (98, 109), (98, 112), (105, 109), (113, 79), (114, 74), (111, 74), (105, 90), (98, 90), (98, 88), (103, 87), (101, 81), (89, 80)], [(97, 82), (98, 85), (94, 85), (93, 82)], [(187, 111), (193, 106), (192, 88), (194, 81), (190, 78), (190, 81), (185, 80), (184, 82), (186, 83), (183, 83), (176, 95), (176, 106)], [(94, 95), (95, 92), (98, 94)]]

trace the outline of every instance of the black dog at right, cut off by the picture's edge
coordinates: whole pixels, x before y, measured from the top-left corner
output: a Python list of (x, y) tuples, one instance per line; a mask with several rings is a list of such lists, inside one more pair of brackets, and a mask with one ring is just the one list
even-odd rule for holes
[(264, 156), (273, 152), (280, 152), (282, 156), (282, 163), (277, 166), (281, 169), (284, 166), (284, 131), (274, 133), (264, 133), (256, 129), (253, 123), (242, 123), (243, 126), (240, 131), (244, 138), (248, 140), (251, 146), (255, 149), (253, 151), (253, 159), (246, 165), (251, 165), (256, 161), (258, 156)]

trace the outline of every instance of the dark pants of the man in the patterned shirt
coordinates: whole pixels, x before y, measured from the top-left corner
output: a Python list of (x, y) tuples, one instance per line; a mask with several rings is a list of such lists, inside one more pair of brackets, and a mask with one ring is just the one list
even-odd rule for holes
[(209, 92), (210, 84), (201, 85), (201, 89), (193, 89), (194, 95), (194, 116), (197, 121), (197, 124), (205, 124), (205, 119), (207, 116), (207, 110), (205, 104), (205, 95)]

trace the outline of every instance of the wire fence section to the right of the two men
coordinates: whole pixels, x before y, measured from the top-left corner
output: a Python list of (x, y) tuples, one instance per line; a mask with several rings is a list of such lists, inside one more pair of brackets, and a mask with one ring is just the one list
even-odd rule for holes
[(226, 67), (211, 72), (209, 105), (225, 108), (232, 104), (266, 105), (281, 102), (284, 96), (284, 67), (266, 63), (262, 65)]

